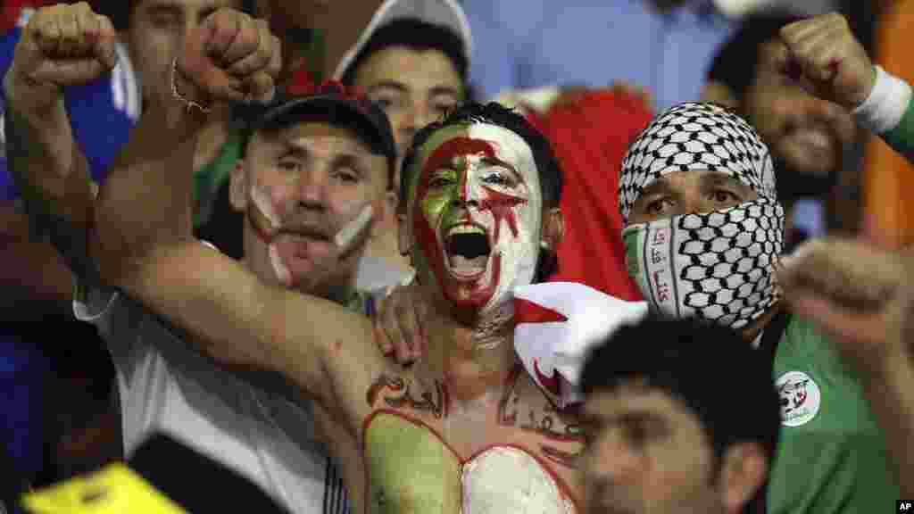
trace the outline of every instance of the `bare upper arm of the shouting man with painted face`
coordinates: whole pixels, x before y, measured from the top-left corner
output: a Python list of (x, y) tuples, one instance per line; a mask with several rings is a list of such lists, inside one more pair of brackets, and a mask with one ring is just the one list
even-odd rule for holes
[(364, 316), (264, 284), (197, 241), (158, 245), (136, 269), (122, 287), (188, 332), (209, 357), (279, 372), (321, 401), (330, 398), (328, 341), (343, 333), (357, 341), (360, 328), (370, 334)]

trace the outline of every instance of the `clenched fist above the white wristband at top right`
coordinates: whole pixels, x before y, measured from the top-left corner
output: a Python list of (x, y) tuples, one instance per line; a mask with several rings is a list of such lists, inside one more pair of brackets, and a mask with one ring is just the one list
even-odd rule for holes
[(781, 28), (783, 69), (800, 75), (816, 96), (853, 110), (876, 84), (876, 69), (845, 16), (815, 16)]

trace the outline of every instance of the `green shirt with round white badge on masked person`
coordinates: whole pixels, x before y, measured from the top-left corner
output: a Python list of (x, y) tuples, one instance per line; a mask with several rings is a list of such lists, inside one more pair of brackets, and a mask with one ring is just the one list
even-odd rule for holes
[(899, 497), (885, 436), (829, 342), (792, 316), (774, 358), (781, 441), (768, 512), (889, 512)]

